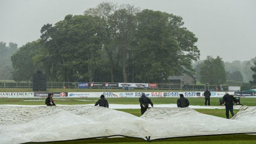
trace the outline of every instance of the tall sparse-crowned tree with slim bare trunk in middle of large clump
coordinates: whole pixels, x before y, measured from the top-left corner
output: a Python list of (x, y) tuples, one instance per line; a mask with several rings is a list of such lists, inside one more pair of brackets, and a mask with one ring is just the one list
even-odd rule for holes
[(110, 31), (113, 34), (113, 43), (121, 57), (123, 82), (128, 82), (127, 61), (129, 61), (129, 53), (134, 48), (133, 41), (135, 39), (136, 17), (139, 8), (133, 5), (121, 5), (120, 9), (110, 15)]

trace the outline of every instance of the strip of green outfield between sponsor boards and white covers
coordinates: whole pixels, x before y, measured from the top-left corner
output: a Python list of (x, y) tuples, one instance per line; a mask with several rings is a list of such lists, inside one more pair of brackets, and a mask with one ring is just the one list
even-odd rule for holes
[[(98, 98), (54, 98), (56, 104), (94, 104)], [(106, 98), (109, 104), (139, 104), (139, 98)], [(178, 98), (150, 98), (154, 104), (176, 104)], [(26, 102), (24, 100), (42, 100), (41, 102)], [(1, 104), (14, 105), (44, 105), (45, 98), (0, 98)], [(88, 102), (79, 100), (89, 100)], [(204, 98), (188, 98), (190, 105), (204, 105)], [(256, 106), (256, 98), (241, 98), (241, 104)], [(220, 106), (219, 98), (211, 98), (212, 106)]]

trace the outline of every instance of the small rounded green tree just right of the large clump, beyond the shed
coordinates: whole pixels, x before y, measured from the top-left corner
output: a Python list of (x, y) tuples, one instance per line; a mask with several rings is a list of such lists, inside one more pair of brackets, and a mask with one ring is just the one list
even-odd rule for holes
[(212, 56), (207, 56), (200, 69), (200, 75), (200, 82), (203, 84), (224, 84), (226, 82), (224, 62), (219, 56), (216, 59), (212, 58)]

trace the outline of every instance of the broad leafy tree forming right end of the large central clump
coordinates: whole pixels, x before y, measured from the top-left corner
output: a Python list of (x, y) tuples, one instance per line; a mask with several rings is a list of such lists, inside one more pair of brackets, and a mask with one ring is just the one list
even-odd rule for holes
[(169, 76), (192, 71), (191, 60), (199, 58), (195, 35), (183, 27), (182, 18), (144, 9), (137, 14), (135, 79), (162, 82)]

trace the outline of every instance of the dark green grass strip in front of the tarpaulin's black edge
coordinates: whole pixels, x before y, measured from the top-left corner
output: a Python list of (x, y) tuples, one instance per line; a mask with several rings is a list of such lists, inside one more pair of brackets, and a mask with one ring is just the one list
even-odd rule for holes
[[(147, 144), (145, 140), (136, 138), (103, 138), (75, 140), (68, 142), (51, 142), (44, 144)], [(197, 136), (185, 138), (171, 138), (165, 140), (153, 140), (154, 144), (256, 144), (256, 135), (220, 135), (220, 136)], [(38, 144), (38, 143), (27, 143)]]

